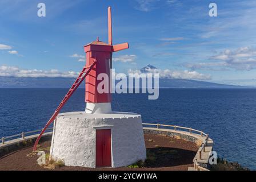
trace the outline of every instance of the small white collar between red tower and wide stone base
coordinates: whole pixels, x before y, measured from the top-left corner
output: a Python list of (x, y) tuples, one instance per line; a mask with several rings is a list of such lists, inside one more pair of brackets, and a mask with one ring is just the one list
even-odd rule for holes
[(111, 103), (91, 103), (86, 102), (85, 113), (93, 114), (93, 113), (111, 113)]

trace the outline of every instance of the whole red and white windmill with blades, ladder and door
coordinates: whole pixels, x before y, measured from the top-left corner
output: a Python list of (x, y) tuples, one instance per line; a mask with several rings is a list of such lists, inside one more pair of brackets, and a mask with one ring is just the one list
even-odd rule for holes
[[(119, 167), (146, 158), (141, 115), (113, 112), (110, 88), (105, 93), (97, 90), (101, 73), (110, 78), (112, 53), (129, 48), (128, 43), (113, 46), (111, 7), (108, 8), (108, 30), (108, 43), (97, 38), (84, 46), (86, 65), (39, 134), (34, 151), (47, 127), (55, 121), (50, 155), (65, 160), (68, 166)], [(59, 114), (83, 80), (85, 111)], [(111, 85), (110, 79), (108, 83)]]

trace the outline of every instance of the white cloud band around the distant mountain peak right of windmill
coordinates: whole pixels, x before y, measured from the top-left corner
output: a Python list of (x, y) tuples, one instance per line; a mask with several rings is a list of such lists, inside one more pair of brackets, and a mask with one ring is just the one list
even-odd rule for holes
[[(128, 71), (129, 73), (140, 74), (142, 73), (139, 70)], [(210, 80), (210, 75), (204, 75), (196, 71), (175, 71), (170, 69), (147, 69), (147, 73), (159, 73), (161, 78), (179, 78), (179, 79), (188, 79), (188, 80)]]

